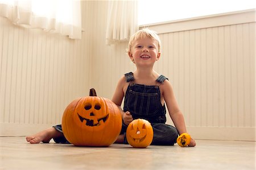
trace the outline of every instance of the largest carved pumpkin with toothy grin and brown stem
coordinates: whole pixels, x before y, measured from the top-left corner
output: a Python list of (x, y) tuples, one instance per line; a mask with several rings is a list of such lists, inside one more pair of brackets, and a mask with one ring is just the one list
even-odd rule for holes
[(109, 146), (121, 131), (122, 117), (115, 103), (97, 97), (90, 89), (90, 96), (75, 99), (67, 106), (62, 128), (65, 138), (75, 146)]

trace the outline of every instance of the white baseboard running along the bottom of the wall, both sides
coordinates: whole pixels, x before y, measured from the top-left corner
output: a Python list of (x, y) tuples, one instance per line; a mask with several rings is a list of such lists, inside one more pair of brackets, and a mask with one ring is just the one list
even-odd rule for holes
[[(53, 124), (0, 123), (0, 136), (27, 136)], [(209, 140), (255, 140), (255, 127), (187, 127), (194, 139)]]

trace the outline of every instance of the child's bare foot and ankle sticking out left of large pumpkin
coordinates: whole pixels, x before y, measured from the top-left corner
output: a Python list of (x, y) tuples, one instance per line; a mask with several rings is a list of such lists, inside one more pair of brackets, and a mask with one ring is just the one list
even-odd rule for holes
[(34, 135), (27, 136), (27, 142), (34, 143), (49, 143), (52, 138), (63, 136), (63, 134), (57, 131), (54, 127), (47, 128), (46, 130), (40, 131)]

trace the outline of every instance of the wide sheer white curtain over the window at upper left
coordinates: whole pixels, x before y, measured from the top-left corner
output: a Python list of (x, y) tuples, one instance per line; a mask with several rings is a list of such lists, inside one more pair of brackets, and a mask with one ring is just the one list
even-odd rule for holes
[(81, 5), (74, 0), (0, 0), (0, 16), (27, 28), (81, 39)]

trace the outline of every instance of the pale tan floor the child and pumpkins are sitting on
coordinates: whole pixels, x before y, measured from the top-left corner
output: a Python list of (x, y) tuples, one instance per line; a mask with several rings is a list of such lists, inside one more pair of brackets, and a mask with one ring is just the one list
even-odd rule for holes
[(0, 137), (0, 169), (255, 169), (255, 142), (196, 140), (196, 147), (76, 147)]

